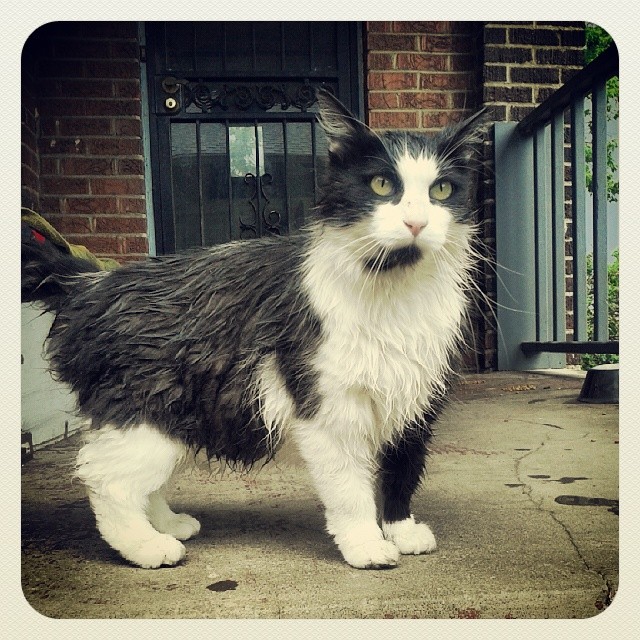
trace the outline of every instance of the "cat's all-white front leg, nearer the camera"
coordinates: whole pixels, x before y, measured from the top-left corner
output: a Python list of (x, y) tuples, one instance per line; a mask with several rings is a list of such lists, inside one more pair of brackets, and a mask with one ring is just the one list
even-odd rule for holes
[(325, 506), (327, 530), (344, 559), (358, 569), (395, 566), (398, 548), (385, 539), (377, 522), (375, 456), (367, 439), (356, 429), (326, 424), (307, 423), (296, 431)]

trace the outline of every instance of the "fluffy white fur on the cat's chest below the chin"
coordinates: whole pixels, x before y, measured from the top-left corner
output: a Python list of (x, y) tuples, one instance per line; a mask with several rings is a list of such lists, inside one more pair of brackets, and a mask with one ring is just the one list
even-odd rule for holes
[(320, 392), (368, 399), (376, 439), (387, 441), (444, 391), (465, 309), (464, 263), (430, 255), (373, 278), (336, 258), (335, 247), (319, 243), (306, 265), (305, 287), (323, 324), (313, 363)]

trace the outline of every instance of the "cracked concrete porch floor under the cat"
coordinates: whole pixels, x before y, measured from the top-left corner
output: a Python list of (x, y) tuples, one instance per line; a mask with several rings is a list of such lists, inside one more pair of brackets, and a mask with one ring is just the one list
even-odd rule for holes
[(80, 438), (22, 468), (22, 589), (79, 618), (588, 618), (618, 585), (618, 406), (581, 380), (465, 376), (414, 500), (435, 553), (397, 568), (344, 563), (306, 471), (194, 468), (174, 509), (202, 523), (177, 567), (135, 568), (101, 540), (71, 471)]

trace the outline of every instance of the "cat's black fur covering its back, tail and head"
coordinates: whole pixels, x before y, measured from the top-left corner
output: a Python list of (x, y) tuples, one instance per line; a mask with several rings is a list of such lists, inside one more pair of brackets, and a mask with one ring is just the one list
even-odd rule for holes
[[(23, 300), (41, 300), (57, 314), (51, 366), (95, 428), (150, 423), (210, 458), (251, 465), (270, 456), (255, 397), (265, 358), (275, 356), (299, 417), (313, 417), (321, 400), (311, 359), (322, 326), (301, 284), (314, 234), (368, 215), (370, 176), (393, 171), (401, 144), (446, 157), (463, 186), (455, 215), (468, 221), (471, 122), (435, 138), (378, 135), (328, 94), (319, 101), (329, 172), (316, 224), (301, 235), (149, 258), (106, 274), (73, 275), (82, 269), (69, 256), (23, 247)], [(410, 268), (420, 259), (417, 250), (398, 250), (377, 268)]]

